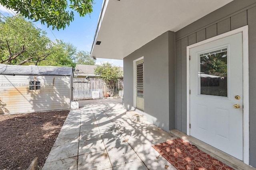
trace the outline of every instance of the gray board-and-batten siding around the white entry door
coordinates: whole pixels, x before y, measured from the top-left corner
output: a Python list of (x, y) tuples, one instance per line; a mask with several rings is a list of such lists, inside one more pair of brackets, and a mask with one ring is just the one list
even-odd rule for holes
[(176, 105), (175, 128), (186, 133), (186, 47), (205, 39), (248, 25), (249, 30), (249, 99), (250, 164), (256, 167), (256, 2), (234, 0), (200, 20), (180, 29), (176, 35)]

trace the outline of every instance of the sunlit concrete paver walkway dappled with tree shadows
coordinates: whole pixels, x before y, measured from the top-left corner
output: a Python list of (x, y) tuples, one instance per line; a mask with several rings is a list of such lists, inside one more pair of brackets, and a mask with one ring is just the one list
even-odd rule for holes
[(176, 170), (152, 148), (176, 137), (128, 119), (122, 99), (79, 105), (68, 114), (42, 170)]

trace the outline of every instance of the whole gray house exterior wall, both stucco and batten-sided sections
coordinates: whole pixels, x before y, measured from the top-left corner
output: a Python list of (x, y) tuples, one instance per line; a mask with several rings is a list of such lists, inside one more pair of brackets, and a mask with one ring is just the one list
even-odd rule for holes
[[(134, 109), (133, 61), (144, 57), (144, 114), (150, 122), (166, 131), (178, 129), (187, 133), (186, 47), (248, 25), (250, 165), (256, 167), (256, 123), (254, 123), (256, 121), (256, 105), (254, 104), (256, 99), (255, 17), (255, 0), (234, 0), (177, 31), (174, 36), (174, 44), (172, 43), (173, 35), (170, 36), (170, 33), (173, 32), (167, 31), (125, 57), (124, 106), (126, 109)], [(174, 51), (175, 55), (172, 54)], [(168, 66), (166, 66), (167, 63)], [(168, 112), (169, 115), (166, 115)]]

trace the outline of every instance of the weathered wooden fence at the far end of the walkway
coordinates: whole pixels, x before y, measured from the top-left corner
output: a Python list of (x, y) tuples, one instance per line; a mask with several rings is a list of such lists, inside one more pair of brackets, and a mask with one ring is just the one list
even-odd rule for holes
[[(123, 90), (123, 79), (120, 78), (116, 82), (114, 88), (114, 96), (118, 96), (119, 90)], [(90, 78), (90, 81), (85, 77), (75, 77), (73, 81), (74, 100), (91, 99), (95, 95), (99, 98), (106, 97), (108, 90), (101, 78)]]

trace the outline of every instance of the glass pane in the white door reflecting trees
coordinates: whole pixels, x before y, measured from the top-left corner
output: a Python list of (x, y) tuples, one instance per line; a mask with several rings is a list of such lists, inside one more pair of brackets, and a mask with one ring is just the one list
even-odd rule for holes
[(200, 94), (228, 97), (227, 49), (200, 54)]

